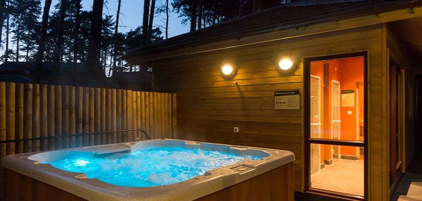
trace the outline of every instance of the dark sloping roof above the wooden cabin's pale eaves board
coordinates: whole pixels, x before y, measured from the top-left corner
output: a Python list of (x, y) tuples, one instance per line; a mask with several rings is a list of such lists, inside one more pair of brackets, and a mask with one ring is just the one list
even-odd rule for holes
[(191, 47), (212, 39), (216, 41), (230, 40), (275, 30), (298, 28), (419, 6), (422, 6), (421, 0), (298, 1), (136, 48), (131, 51), (131, 54), (150, 50), (165, 50), (176, 46), (178, 48)]

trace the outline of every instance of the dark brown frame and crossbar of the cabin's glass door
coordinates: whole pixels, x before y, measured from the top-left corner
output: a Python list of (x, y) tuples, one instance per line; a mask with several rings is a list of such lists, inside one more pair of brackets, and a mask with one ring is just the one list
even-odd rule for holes
[[(334, 139), (315, 139), (310, 137), (310, 63), (312, 61), (324, 61), (333, 59), (344, 59), (353, 57), (363, 57), (364, 59), (364, 141), (334, 140)], [(304, 192), (323, 194), (329, 197), (344, 197), (365, 200), (368, 197), (368, 52), (354, 52), (346, 54), (333, 54), (328, 56), (306, 57), (303, 58), (303, 97), (304, 97)], [(354, 146), (364, 148), (364, 196), (352, 195), (347, 193), (322, 190), (310, 187), (310, 144)]]

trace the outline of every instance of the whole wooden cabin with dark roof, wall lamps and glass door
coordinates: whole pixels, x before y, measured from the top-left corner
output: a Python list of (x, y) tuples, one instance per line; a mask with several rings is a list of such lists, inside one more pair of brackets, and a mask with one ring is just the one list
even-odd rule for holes
[(344, 2), (271, 8), (129, 60), (177, 93), (179, 139), (294, 152), (297, 200), (387, 201), (420, 153), (422, 1)]

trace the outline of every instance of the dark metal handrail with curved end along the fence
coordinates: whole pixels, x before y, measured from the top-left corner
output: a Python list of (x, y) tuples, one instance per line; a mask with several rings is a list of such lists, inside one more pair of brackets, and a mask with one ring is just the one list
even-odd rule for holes
[[(107, 133), (118, 133), (118, 132), (128, 132), (128, 131), (140, 131), (143, 133), (148, 140), (151, 140), (147, 132), (145, 132), (142, 129), (126, 129), (126, 130), (117, 130), (117, 131), (101, 131), (101, 132), (95, 132), (95, 133), (80, 133), (80, 134), (64, 134), (64, 135), (58, 135), (58, 136), (45, 136), (45, 137), (36, 137), (36, 138), (23, 138), (23, 139), (15, 139), (15, 140), (2, 140), (0, 141), (0, 144), (2, 143), (11, 143), (11, 142), (26, 142), (26, 141), (33, 141), (33, 140), (48, 140), (48, 139), (58, 139), (58, 138), (69, 138), (69, 137), (79, 137), (79, 136), (89, 136), (89, 135), (99, 135), (99, 134), (107, 134)], [(138, 135), (137, 135), (138, 139)]]

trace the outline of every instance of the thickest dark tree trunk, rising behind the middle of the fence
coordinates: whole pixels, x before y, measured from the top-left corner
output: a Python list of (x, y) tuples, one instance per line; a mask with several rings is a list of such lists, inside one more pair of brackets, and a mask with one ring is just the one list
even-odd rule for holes
[(96, 78), (99, 77), (97, 70), (99, 68), (99, 48), (101, 40), (101, 22), (102, 22), (102, 6), (103, 0), (94, 0), (92, 4), (92, 20), (91, 20), (91, 33), (89, 35), (89, 45), (88, 45), (88, 59), (86, 69), (89, 74), (95, 76), (95, 85)]

